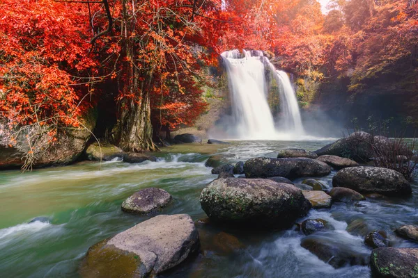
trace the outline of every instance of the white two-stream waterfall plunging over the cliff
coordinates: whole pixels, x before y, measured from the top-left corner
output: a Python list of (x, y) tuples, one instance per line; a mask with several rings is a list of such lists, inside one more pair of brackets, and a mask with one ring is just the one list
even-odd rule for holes
[[(262, 51), (238, 49), (222, 53), (228, 76), (231, 108), (235, 129), (230, 130), (239, 139), (277, 139), (280, 135), (302, 135), (303, 126), (295, 91), (286, 72), (276, 70)], [(272, 73), (279, 84), (281, 119), (278, 132), (268, 105), (266, 72)], [(288, 137), (288, 136), (287, 136)]]

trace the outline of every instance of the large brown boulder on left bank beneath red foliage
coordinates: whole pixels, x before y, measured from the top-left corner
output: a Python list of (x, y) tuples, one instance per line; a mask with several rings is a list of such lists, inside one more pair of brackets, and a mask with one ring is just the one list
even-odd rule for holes
[[(79, 127), (60, 127), (56, 138), (48, 134), (45, 126), (26, 126), (20, 129), (9, 129), (8, 122), (0, 120), (0, 169), (18, 168), (31, 162), (33, 167), (46, 167), (51, 165), (67, 165), (79, 158), (91, 138), (96, 123), (93, 110), (81, 119)], [(26, 137), (28, 136), (28, 137)], [(11, 138), (15, 138), (12, 142)], [(34, 149), (31, 149), (29, 142)], [(32, 154), (26, 161), (27, 154)], [(29, 165), (30, 166), (30, 165)]]

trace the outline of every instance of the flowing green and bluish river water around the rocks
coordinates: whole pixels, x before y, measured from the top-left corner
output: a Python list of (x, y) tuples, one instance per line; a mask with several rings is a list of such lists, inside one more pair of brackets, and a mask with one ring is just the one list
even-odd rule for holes
[[(174, 202), (161, 213), (187, 213), (205, 218), (199, 203), (201, 190), (217, 175), (205, 162), (223, 154), (231, 162), (256, 156), (277, 156), (280, 149), (318, 149), (323, 141), (239, 141), (231, 145), (177, 145), (158, 153), (159, 161), (128, 164), (118, 161), (82, 162), (21, 174), (0, 172), (1, 277), (79, 277), (79, 264), (88, 247), (151, 217), (121, 211), (124, 199), (141, 188), (158, 187)], [(320, 178), (332, 187), (333, 171)], [(300, 181), (302, 179), (298, 179)], [(369, 256), (364, 245), (369, 231), (385, 229), (392, 246), (418, 247), (396, 238), (393, 230), (418, 223), (418, 184), (412, 197), (367, 199), (357, 204), (336, 203), (330, 209), (311, 210), (304, 218), (322, 218), (332, 225), (310, 237), (325, 238), (340, 250)], [(33, 218), (45, 217), (47, 221)], [(370, 277), (368, 266), (334, 269), (300, 247), (297, 231), (243, 231), (196, 222), (201, 253), (162, 277)], [(228, 250), (219, 233), (240, 241)]]

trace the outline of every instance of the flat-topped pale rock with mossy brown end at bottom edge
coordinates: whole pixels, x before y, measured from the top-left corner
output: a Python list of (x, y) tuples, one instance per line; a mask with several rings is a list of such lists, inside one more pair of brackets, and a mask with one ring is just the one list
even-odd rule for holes
[(199, 250), (186, 214), (158, 215), (88, 249), (82, 277), (154, 277)]

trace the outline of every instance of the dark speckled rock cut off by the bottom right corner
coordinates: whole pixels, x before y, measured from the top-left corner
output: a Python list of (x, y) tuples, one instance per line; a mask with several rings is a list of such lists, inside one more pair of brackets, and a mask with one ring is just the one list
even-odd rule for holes
[(418, 277), (418, 248), (381, 247), (371, 252), (373, 277)]

